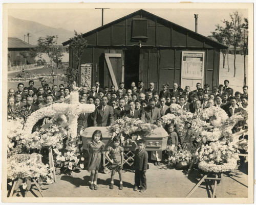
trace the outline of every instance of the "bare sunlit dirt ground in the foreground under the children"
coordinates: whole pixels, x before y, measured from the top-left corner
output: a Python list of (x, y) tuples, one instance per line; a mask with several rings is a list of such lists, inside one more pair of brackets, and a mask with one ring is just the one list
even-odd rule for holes
[[(72, 172), (72, 175), (59, 174), (57, 170), (57, 182), (42, 186), (44, 197), (181, 197), (184, 198), (202, 177), (198, 168), (191, 170), (188, 177), (185, 171), (176, 170), (174, 167), (161, 164), (154, 166), (149, 163), (147, 170), (147, 190), (143, 193), (133, 191), (134, 172), (133, 170), (123, 170), (123, 190), (118, 189), (119, 177), (115, 174), (115, 186), (109, 189), (110, 173), (99, 173), (98, 190), (90, 190), (90, 173), (82, 170), (79, 173)], [(223, 180), (217, 185), (216, 196), (218, 198), (247, 197), (248, 192), (248, 169), (247, 162), (239, 166), (238, 170), (224, 174)], [(207, 198), (211, 191), (203, 183), (190, 197)], [(36, 189), (34, 193), (38, 194)], [(13, 197), (22, 197), (19, 193), (14, 193)], [(32, 192), (28, 192), (28, 197), (34, 197)], [(170, 201), (171, 202), (171, 201)]]

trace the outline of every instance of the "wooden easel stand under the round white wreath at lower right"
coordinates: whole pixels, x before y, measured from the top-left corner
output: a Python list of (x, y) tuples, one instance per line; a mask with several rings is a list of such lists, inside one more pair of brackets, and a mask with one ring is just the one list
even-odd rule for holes
[[(215, 175), (215, 177), (208, 177), (208, 175)], [(212, 195), (211, 195), (211, 198), (215, 198), (216, 197), (216, 189), (217, 189), (217, 181), (221, 181), (223, 178), (223, 172), (221, 173), (212, 173), (212, 172), (208, 172), (206, 173), (202, 178), (201, 180), (197, 183), (197, 185), (191, 189), (191, 191), (186, 195), (185, 198), (188, 198), (189, 196), (191, 196), (191, 194), (193, 194), (196, 189), (204, 182), (206, 181), (206, 183), (209, 183), (210, 181), (214, 181), (214, 189), (212, 190), (212, 187), (211, 185), (210, 186), (210, 189), (212, 191)], [(206, 186), (207, 188), (207, 186)]]

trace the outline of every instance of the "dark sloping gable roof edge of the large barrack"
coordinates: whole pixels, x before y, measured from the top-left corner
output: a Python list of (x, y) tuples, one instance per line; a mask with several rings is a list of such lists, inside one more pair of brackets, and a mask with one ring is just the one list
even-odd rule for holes
[[(171, 21), (168, 21), (168, 20), (166, 20), (166, 19), (164, 19), (164, 18), (161, 18), (161, 17), (159, 17), (159, 16), (157, 16), (157, 15), (155, 15), (155, 14), (152, 14), (152, 13), (150, 13), (150, 12), (147, 12), (147, 11), (145, 11), (145, 10), (143, 10), (143, 9), (140, 9), (140, 10), (134, 12), (134, 13), (131, 13), (131, 14), (129, 14), (129, 15), (126, 15), (126, 16), (124, 16), (124, 17), (121, 17), (121, 18), (119, 18), (119, 19), (117, 19), (117, 20), (114, 20), (114, 21), (112, 21), (112, 22), (110, 22), (110, 23), (107, 23), (107, 24), (105, 24), (105, 25), (102, 25), (101, 27), (98, 27), (98, 28), (96, 28), (96, 29), (94, 29), (94, 30), (92, 30), (92, 31), (89, 31), (89, 32), (87, 32), (87, 33), (82, 34), (82, 36), (83, 36), (83, 37), (89, 36), (90, 34), (93, 34), (94, 32), (97, 32), (97, 31), (99, 31), (99, 30), (103, 30), (103, 29), (105, 29), (105, 28), (108, 28), (108, 27), (109, 27), (110, 25), (112, 25), (112, 24), (118, 23), (118, 22), (120, 22), (120, 21), (123, 21), (123, 20), (125, 20), (125, 19), (127, 19), (127, 18), (131, 18), (131, 17), (136, 16), (136, 15), (142, 15), (142, 14), (143, 14), (144, 16), (147, 16), (147, 17), (151, 18), (151, 19), (159, 19), (159, 20), (161, 20), (161, 21), (164, 21), (166, 24), (173, 25), (173, 26), (175, 26), (175, 27), (177, 27), (177, 28), (179, 28), (179, 29), (181, 29), (181, 30), (184, 30), (184, 31), (190, 33), (190, 34), (197, 35), (197, 36), (199, 36), (200, 38), (202, 38), (202, 39), (205, 40), (205, 41), (212, 42), (213, 44), (215, 44), (215, 47), (218, 47), (218, 48), (221, 48), (221, 49), (227, 49), (227, 48), (228, 48), (228, 46), (226, 46), (226, 45), (224, 45), (224, 44), (222, 44), (222, 43), (219, 43), (218, 41), (212, 40), (211, 38), (208, 38), (208, 37), (206, 37), (206, 36), (203, 36), (203, 35), (201, 35), (201, 34), (199, 34), (199, 33), (196, 33), (196, 32), (194, 32), (194, 31), (191, 31), (191, 30), (189, 30), (189, 29), (186, 29), (186, 28), (182, 27), (181, 25), (178, 25), (178, 24), (176, 24), (176, 23), (173, 23), (173, 22), (171, 22)], [(68, 41), (63, 42), (62, 44), (65, 46), (65, 45), (68, 45), (70, 42), (71, 42), (71, 39), (68, 40)]]

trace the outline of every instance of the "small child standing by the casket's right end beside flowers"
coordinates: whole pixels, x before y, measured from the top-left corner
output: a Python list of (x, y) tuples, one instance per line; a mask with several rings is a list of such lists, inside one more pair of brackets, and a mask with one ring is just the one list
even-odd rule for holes
[[(168, 140), (167, 140), (168, 158), (170, 158), (172, 155), (174, 155), (174, 149), (178, 148), (178, 143), (179, 143), (178, 135), (174, 131), (174, 129), (175, 129), (174, 123), (170, 123), (167, 126), (167, 133), (169, 134)], [(169, 161), (168, 165), (170, 165), (170, 161)]]

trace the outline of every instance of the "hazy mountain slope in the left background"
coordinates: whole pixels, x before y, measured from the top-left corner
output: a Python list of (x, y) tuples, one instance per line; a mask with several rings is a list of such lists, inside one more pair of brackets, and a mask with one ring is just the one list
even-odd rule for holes
[(15, 37), (24, 40), (24, 35), (26, 35), (25, 41), (28, 42), (27, 33), (30, 33), (29, 43), (32, 45), (37, 44), (39, 37), (46, 37), (47, 35), (58, 35), (58, 45), (74, 36), (74, 32), (66, 29), (52, 28), (35, 21), (22, 20), (8, 16), (8, 37)]

